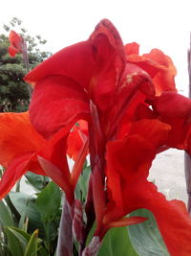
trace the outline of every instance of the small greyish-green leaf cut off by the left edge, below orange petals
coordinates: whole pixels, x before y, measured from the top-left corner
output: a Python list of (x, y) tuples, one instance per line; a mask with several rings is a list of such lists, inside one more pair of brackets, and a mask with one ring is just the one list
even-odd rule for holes
[(14, 221), (12, 220), (11, 211), (8, 205), (4, 203), (3, 200), (0, 200), (0, 222), (6, 225), (14, 225)]

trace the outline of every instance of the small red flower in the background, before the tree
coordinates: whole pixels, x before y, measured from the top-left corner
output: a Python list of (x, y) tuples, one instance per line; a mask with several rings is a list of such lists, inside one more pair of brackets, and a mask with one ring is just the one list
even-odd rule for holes
[(11, 46), (9, 46), (9, 54), (14, 57), (17, 53), (23, 53), (24, 39), (14, 31), (11, 31), (9, 36)]

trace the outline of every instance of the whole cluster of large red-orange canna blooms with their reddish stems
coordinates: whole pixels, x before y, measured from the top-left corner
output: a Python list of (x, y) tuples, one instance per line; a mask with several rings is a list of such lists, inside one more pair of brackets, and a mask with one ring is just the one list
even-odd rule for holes
[[(58, 255), (72, 255), (74, 240), (79, 255), (96, 255), (112, 227), (147, 221), (131, 214), (142, 208), (155, 216), (166, 255), (191, 254), (184, 203), (167, 200), (147, 180), (157, 153), (191, 152), (191, 101), (177, 93), (175, 76), (171, 58), (158, 49), (138, 55), (138, 44), (123, 45), (104, 19), (88, 40), (26, 75), (33, 86), (29, 112), (0, 114), (0, 163), (7, 167), (0, 198), (27, 171), (50, 176), (66, 196)], [(75, 188), (88, 154), (84, 200)]]

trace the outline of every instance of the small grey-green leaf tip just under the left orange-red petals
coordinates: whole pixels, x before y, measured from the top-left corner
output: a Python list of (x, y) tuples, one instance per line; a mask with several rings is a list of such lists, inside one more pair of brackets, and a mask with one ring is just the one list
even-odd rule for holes
[(30, 183), (32, 187), (38, 192), (43, 190), (50, 182), (49, 177), (43, 175), (35, 175), (32, 172), (28, 172), (25, 177), (27, 178), (27, 183)]

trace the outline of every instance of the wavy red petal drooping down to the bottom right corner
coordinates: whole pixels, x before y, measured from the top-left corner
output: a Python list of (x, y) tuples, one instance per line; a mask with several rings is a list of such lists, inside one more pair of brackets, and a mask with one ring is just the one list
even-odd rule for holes
[[(155, 133), (152, 136), (155, 136)], [(144, 140), (134, 135), (108, 145), (107, 177), (111, 192), (104, 220), (110, 222), (122, 217), (116, 208), (116, 184), (119, 183), (123, 216), (138, 208), (152, 211), (170, 254), (190, 255), (191, 219), (183, 202), (167, 201), (158, 193), (156, 186), (146, 180), (156, 153), (156, 144), (152, 143), (154, 147), (149, 144), (149, 138)]]

